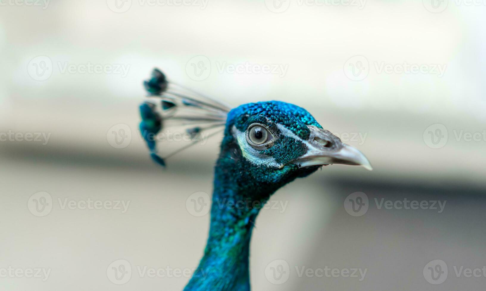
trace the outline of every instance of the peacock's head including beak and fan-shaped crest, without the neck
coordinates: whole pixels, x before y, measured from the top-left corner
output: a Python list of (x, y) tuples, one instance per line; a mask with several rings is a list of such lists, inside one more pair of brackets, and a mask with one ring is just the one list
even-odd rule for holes
[[(158, 131), (171, 119), (190, 122), (186, 132), (196, 133), (196, 137), (206, 130), (224, 127), (216, 166), (220, 178), (217, 186), (231, 183), (247, 193), (259, 193), (259, 189), (273, 192), (323, 165), (362, 165), (372, 169), (359, 150), (344, 144), (323, 129), (309, 112), (293, 104), (266, 101), (230, 110), (220, 102), (167, 81), (158, 70), (145, 81), (145, 87), (152, 98), (141, 107), (140, 128), (145, 132)], [(180, 113), (184, 109), (191, 113)], [(194, 123), (203, 125), (193, 127)], [(147, 140), (147, 144), (154, 160), (165, 165), (155, 143)]]

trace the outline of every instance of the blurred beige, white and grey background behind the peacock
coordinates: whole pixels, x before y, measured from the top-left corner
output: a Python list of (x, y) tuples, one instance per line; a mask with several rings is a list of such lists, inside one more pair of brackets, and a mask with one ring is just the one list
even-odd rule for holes
[(153, 67), (234, 107), (295, 103), (373, 164), (272, 196), (253, 290), (484, 289), (485, 2), (0, 4), (0, 290), (183, 289), (192, 271), (167, 270), (203, 254), (209, 214), (188, 201), (211, 194), (221, 135), (154, 164), (138, 132)]

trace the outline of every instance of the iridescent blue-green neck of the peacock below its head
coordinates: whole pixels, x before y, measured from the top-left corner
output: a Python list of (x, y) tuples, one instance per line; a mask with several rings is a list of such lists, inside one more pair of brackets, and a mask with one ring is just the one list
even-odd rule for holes
[(216, 166), (204, 257), (185, 291), (250, 290), (251, 233), (255, 219), (271, 193), (249, 193), (248, 181), (242, 181), (234, 172), (222, 168)]

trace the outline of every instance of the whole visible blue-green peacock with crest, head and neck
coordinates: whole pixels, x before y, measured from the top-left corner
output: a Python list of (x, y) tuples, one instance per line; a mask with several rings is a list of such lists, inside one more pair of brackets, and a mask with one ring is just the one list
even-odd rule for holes
[[(307, 177), (323, 165), (372, 169), (364, 154), (294, 104), (262, 101), (231, 109), (168, 81), (159, 69), (152, 71), (144, 87), (148, 99), (139, 108), (140, 132), (156, 163), (165, 166), (168, 157), (223, 131), (214, 168), (208, 241), (185, 291), (250, 290), (252, 229), (262, 206), (283, 185)], [(157, 135), (171, 126), (190, 138), (162, 157)], [(244, 207), (228, 206), (237, 203)]]

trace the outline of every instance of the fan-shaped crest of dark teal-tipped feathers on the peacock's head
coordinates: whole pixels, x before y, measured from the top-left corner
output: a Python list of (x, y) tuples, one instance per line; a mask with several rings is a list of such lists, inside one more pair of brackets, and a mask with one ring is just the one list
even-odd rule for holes
[[(230, 111), (228, 106), (168, 81), (157, 68), (143, 85), (148, 100), (140, 105), (140, 132), (151, 158), (162, 166), (165, 166), (165, 159), (222, 131), (226, 124), (227, 113)], [(165, 141), (167, 144), (170, 140), (161, 136), (163, 130), (166, 130), (168, 136), (181, 135), (185, 143), (182, 146), (177, 143), (173, 152), (161, 157), (157, 142)]]

